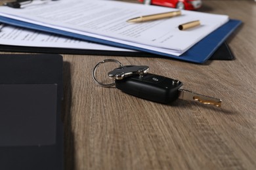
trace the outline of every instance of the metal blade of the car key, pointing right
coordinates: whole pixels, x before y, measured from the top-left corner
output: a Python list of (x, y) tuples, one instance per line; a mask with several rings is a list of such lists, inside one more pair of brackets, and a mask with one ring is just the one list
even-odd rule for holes
[(209, 97), (206, 95), (191, 92), (189, 90), (179, 89), (179, 99), (188, 101), (199, 101), (205, 105), (214, 105), (215, 107), (221, 107), (221, 99)]

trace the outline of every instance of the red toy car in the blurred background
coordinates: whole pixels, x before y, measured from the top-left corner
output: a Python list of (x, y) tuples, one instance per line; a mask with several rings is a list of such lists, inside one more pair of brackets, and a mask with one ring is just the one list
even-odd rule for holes
[(160, 5), (176, 9), (195, 10), (202, 6), (201, 0), (139, 0), (148, 5)]

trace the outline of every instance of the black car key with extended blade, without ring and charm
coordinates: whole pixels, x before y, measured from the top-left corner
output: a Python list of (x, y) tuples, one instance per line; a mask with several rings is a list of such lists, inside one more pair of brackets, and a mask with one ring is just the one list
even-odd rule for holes
[(117, 89), (142, 99), (165, 104), (171, 103), (176, 99), (185, 99), (221, 107), (221, 99), (183, 90), (181, 87), (182, 82), (179, 80), (150, 73), (129, 76), (121, 80), (116, 79)]

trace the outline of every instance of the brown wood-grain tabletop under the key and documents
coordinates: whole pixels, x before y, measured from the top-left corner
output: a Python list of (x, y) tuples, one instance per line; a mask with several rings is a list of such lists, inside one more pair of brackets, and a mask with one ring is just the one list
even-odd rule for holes
[[(63, 55), (66, 169), (256, 169), (256, 3), (203, 1), (200, 11), (242, 20), (227, 40), (236, 59)], [(148, 65), (223, 105), (162, 105), (96, 86), (93, 67), (108, 58)]]

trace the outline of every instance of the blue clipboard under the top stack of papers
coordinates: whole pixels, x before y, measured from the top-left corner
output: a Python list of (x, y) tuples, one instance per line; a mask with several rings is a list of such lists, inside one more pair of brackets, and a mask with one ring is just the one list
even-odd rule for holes
[(219, 46), (221, 46), (221, 44), (223, 44), (223, 42), (226, 40), (226, 38), (240, 24), (242, 24), (242, 22), (240, 20), (230, 19), (226, 24), (222, 25), (221, 27), (219, 27), (218, 29), (216, 29), (215, 31), (213, 31), (212, 33), (207, 35), (201, 41), (199, 41), (194, 46), (192, 46), (189, 50), (184, 52), (184, 54), (182, 54), (181, 56), (173, 56), (171, 54), (164, 54), (162, 52), (156, 52), (154, 50), (139, 48), (137, 46), (130, 46), (127, 44), (106, 41), (104, 39), (97, 39), (94, 37), (79, 35), (77, 33), (70, 33), (68, 31), (62, 31), (59, 29), (51, 28), (51, 27), (45, 27), (42, 25), (31, 24), (28, 22), (22, 22), (20, 20), (14, 20), (14, 19), (7, 18), (4, 16), (0, 16), (0, 22), (3, 22), (5, 24), (10, 24), (10, 25), (16, 25), (19, 27), (26, 27), (29, 29), (37, 29), (39, 31), (46, 31), (49, 33), (56, 33), (56, 34), (64, 35), (64, 36), (68, 36), (68, 37), (74, 37), (74, 38), (85, 40), (85, 41), (91, 41), (91, 42), (106, 44), (106, 45), (110, 45), (110, 46), (117, 46), (119, 48), (127, 48), (127, 49), (131, 49), (131, 50), (148, 52), (151, 54), (157, 54), (157, 55), (165, 56), (165, 57), (169, 57), (169, 58), (190, 61), (193, 63), (205, 63), (205, 61), (207, 61), (207, 59), (209, 59), (213, 55), (213, 53), (219, 48)]

